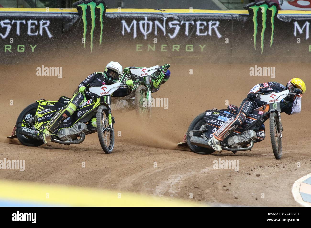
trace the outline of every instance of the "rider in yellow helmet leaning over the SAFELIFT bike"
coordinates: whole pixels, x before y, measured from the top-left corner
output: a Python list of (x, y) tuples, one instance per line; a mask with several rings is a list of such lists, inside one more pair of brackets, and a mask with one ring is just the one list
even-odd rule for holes
[[(292, 96), (287, 96), (281, 102), (281, 112), (286, 114), (296, 114), (301, 110), (301, 97), (303, 93), (306, 92), (306, 85), (300, 78), (291, 79), (286, 87), (281, 83), (277, 82), (267, 82), (255, 85), (247, 94), (239, 110), (237, 110), (237, 115), (228, 119), (214, 134), (213, 137), (208, 141), (214, 150), (221, 152), (220, 141), (223, 141), (230, 132), (234, 131), (237, 127), (241, 126), (245, 121), (246, 117), (252, 113), (252, 111), (259, 106), (263, 105), (263, 101), (256, 99), (255, 92), (262, 92), (263, 94), (268, 94), (270, 92), (281, 92), (289, 89), (294, 93)], [(268, 118), (268, 117), (267, 117)], [(265, 128), (264, 124), (259, 128), (257, 133), (258, 141), (262, 141), (265, 138)]]

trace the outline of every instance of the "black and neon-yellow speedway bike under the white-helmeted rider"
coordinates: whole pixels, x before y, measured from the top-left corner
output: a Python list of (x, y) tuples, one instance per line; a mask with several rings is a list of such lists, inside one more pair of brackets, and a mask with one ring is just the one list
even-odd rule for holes
[[(117, 82), (111, 85), (86, 88), (91, 92), (92, 99), (82, 103), (77, 110), (52, 133), (51, 141), (63, 144), (80, 144), (87, 134), (97, 132), (100, 145), (105, 153), (110, 154), (114, 149), (114, 117), (111, 115), (111, 95), (120, 87), (126, 85)], [(95, 96), (94, 96), (95, 94)], [(40, 146), (40, 137), (45, 125), (71, 99), (65, 96), (58, 101), (38, 100), (28, 105), (18, 116), (12, 136), (26, 146)], [(89, 130), (86, 123), (96, 114), (97, 129)]]

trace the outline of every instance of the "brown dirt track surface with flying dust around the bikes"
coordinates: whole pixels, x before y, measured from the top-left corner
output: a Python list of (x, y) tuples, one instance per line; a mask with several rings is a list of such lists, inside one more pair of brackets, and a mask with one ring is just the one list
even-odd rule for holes
[[(166, 61), (146, 59), (140, 65), (151, 66), (158, 62)], [(153, 97), (169, 98), (169, 108), (154, 107), (153, 123), (147, 127), (137, 121), (133, 111), (114, 115), (116, 141), (112, 154), (102, 153), (96, 133), (88, 135), (80, 145), (35, 148), (20, 145), (17, 139), (5, 138), (11, 134), (24, 107), (39, 98), (57, 100), (61, 95), (71, 96), (87, 75), (102, 70), (100, 61), (86, 67), (42, 62), (45, 66), (63, 67), (63, 78), (59, 79), (36, 76), (36, 67), (40, 67), (41, 62), (1, 66), (2, 77), (10, 79), (2, 79), (0, 118), (4, 128), (0, 134), (0, 160), (25, 160), (26, 166), (24, 172), (0, 170), (1, 179), (141, 192), (213, 205), (299, 206), (291, 194), (292, 184), (311, 170), (309, 65), (254, 63), (205, 64), (202, 67), (178, 64), (174, 59), (168, 62), (172, 64), (171, 79)], [(120, 60), (120, 63), (137, 65), (134, 60)], [(255, 65), (276, 67), (276, 78), (249, 76), (249, 68)], [(193, 69), (193, 75), (189, 74), (189, 69)], [(211, 108), (225, 108), (226, 100), (239, 105), (257, 83), (286, 84), (296, 76), (305, 81), (307, 92), (302, 98), (300, 114), (282, 114), (281, 160), (273, 156), (268, 122), (266, 139), (255, 144), (252, 151), (200, 155), (177, 148), (176, 144), (198, 114)], [(14, 101), (13, 106), (10, 100)], [(117, 135), (118, 131), (121, 136)], [(239, 171), (214, 169), (213, 162), (218, 159), (239, 160)], [(86, 163), (86, 168), (81, 168), (82, 162)], [(189, 199), (190, 193), (193, 199)]]

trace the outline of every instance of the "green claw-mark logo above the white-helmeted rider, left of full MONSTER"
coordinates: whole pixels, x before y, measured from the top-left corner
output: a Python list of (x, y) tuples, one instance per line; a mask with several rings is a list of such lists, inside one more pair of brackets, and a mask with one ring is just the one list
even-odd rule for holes
[(91, 28), (91, 53), (93, 50), (93, 36), (94, 36), (94, 29), (95, 29), (95, 8), (99, 8), (100, 9), (100, 40), (99, 40), (99, 46), (101, 45), (101, 41), (103, 38), (103, 17), (105, 14), (105, 5), (104, 3), (100, 2), (98, 5), (96, 4), (96, 2), (88, 2), (88, 3), (82, 3), (79, 4), (77, 7), (81, 7), (82, 9), (82, 20), (83, 20), (83, 27), (84, 27), (84, 32), (83, 32), (83, 39), (84, 39), (84, 48), (85, 48), (85, 43), (86, 43), (86, 26), (87, 26), (87, 20), (86, 20), (86, 10), (87, 7), (90, 8), (91, 11), (91, 24), (92, 24), (92, 28)]

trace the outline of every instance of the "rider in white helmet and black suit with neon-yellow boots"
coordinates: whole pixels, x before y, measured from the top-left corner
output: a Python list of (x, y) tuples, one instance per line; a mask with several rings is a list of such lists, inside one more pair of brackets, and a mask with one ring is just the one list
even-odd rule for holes
[[(66, 106), (64, 106), (61, 110), (59, 110), (47, 123), (44, 131), (42, 132), (42, 140), (46, 145), (51, 145), (51, 133), (58, 129), (59, 125), (71, 116), (79, 105), (85, 101), (88, 101), (92, 98), (90, 92), (85, 91), (86, 87), (95, 86), (99, 87), (102, 85), (110, 85), (116, 83), (118, 81), (119, 76), (122, 74), (123, 68), (118, 62), (110, 62), (105, 67), (104, 72), (94, 72), (87, 76), (87, 78), (80, 83), (78, 86), (79, 91), (75, 93), (68, 102)], [(128, 80), (126, 82), (128, 87), (120, 87), (116, 90), (112, 96), (127, 96), (132, 91), (133, 81)], [(89, 130), (96, 129), (96, 116), (89, 121), (91, 123), (88, 124)]]

